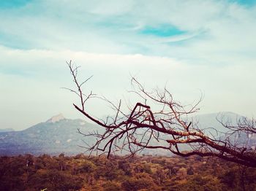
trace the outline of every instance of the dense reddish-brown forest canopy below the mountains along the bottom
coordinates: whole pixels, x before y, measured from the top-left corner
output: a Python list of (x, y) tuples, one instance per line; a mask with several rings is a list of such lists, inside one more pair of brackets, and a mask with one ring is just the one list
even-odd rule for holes
[(216, 158), (0, 157), (0, 190), (256, 190), (256, 169)]

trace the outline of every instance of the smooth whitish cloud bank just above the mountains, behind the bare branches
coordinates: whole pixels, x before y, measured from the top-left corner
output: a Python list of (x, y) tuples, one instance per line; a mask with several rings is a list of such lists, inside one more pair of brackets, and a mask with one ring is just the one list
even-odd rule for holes
[[(69, 59), (82, 66), (80, 80), (94, 75), (86, 84), (86, 92), (93, 90), (114, 102), (120, 98), (133, 104), (138, 101), (127, 93), (132, 90), (130, 78), (137, 77), (148, 90), (166, 85), (174, 98), (184, 104), (200, 98), (203, 91), (200, 105), (203, 112), (233, 111), (251, 116), (256, 106), (253, 101), (256, 90), (251, 85), (255, 81), (255, 64), (219, 67), (191, 65), (158, 56), (4, 47), (1, 47), (0, 58), (0, 120), (3, 126), (10, 128), (26, 128), (59, 112), (67, 117), (81, 117), (72, 108), (78, 98), (60, 88), (74, 87), (65, 64)], [(112, 112), (108, 104), (90, 103), (87, 108), (96, 116)], [(16, 120), (12, 120), (13, 116)]]

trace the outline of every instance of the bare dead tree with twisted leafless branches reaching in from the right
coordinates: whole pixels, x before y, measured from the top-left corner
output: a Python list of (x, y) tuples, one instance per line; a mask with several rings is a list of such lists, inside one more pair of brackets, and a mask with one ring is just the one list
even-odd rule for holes
[[(99, 97), (92, 92), (86, 95), (81, 88), (91, 77), (79, 83), (78, 67), (71, 61), (67, 64), (76, 90), (67, 89), (77, 94), (80, 99), (80, 106), (74, 104), (75, 109), (92, 122), (105, 128), (104, 133), (83, 133), (85, 136), (94, 136), (97, 139), (93, 145), (87, 147), (89, 151), (107, 153), (109, 157), (110, 154), (121, 151), (135, 155), (143, 149), (165, 149), (182, 157), (191, 155), (219, 157), (234, 163), (256, 167), (255, 150), (249, 149), (246, 145), (233, 144), (230, 139), (208, 135), (189, 118), (191, 114), (197, 112), (200, 100), (188, 109), (187, 106), (174, 101), (173, 95), (166, 88), (162, 91), (148, 92), (135, 78), (131, 80), (135, 86), (133, 93), (139, 95), (142, 101), (131, 107), (129, 112), (123, 112), (121, 101), (115, 105), (103, 98), (113, 106), (116, 114), (106, 120), (98, 120), (86, 111), (85, 105), (89, 99)], [(151, 106), (157, 105), (159, 109), (153, 111), (148, 103)], [(233, 132), (255, 133), (256, 131), (255, 122), (249, 120), (241, 121), (237, 126), (224, 123), (223, 125)], [(182, 149), (184, 145), (186, 145), (186, 151)]]

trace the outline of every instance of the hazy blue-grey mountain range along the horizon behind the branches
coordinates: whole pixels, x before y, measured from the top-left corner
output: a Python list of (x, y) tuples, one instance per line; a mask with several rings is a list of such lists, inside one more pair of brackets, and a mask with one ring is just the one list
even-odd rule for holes
[[(201, 129), (208, 128), (207, 132), (214, 134), (215, 128), (219, 131), (226, 132), (217, 118), (223, 121), (236, 122), (239, 117), (238, 114), (231, 112), (222, 112), (214, 114), (203, 114), (193, 117), (194, 122), (198, 122), (198, 127)], [(93, 125), (84, 120), (68, 120), (62, 114), (51, 117), (46, 122), (40, 122), (37, 125), (27, 128), (26, 130), (13, 131), (5, 129), (0, 131), (0, 155), (20, 155), (31, 153), (33, 155), (49, 154), (59, 155), (76, 155), (85, 152), (84, 146), (93, 144), (95, 139), (89, 136), (83, 136), (78, 133), (80, 129), (84, 133), (98, 130), (103, 132), (103, 128)], [(218, 135), (220, 136), (220, 135)], [(243, 138), (243, 137), (242, 137)], [(243, 139), (245, 139), (244, 137)], [(256, 137), (250, 139), (251, 144), (256, 144)], [(170, 152), (163, 152), (162, 150), (148, 149), (141, 154), (147, 155), (170, 155)]]

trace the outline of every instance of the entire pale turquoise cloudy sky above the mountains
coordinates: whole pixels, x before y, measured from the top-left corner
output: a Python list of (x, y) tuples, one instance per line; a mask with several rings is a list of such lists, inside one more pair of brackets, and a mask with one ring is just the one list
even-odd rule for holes
[[(256, 1), (0, 1), (0, 128), (83, 118), (66, 61), (93, 90), (135, 104), (131, 77), (200, 112), (256, 117)], [(95, 117), (111, 113), (100, 100)], [(84, 118), (83, 118), (84, 119)]]

